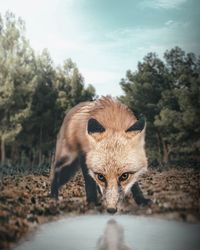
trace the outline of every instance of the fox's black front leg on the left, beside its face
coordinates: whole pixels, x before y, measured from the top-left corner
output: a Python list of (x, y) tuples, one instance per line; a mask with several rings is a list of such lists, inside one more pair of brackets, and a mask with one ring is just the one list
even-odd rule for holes
[(83, 173), (83, 177), (85, 180), (85, 191), (87, 196), (88, 203), (97, 204), (97, 185), (96, 182), (92, 179), (92, 177), (88, 173), (88, 168), (85, 163), (85, 156), (81, 154), (79, 156), (81, 169)]

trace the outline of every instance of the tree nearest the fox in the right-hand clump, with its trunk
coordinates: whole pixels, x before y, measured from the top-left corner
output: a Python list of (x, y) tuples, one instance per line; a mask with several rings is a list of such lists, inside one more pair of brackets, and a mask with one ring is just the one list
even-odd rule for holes
[(138, 63), (138, 71), (127, 71), (121, 87), (125, 96), (121, 101), (130, 107), (138, 117), (144, 115), (147, 120), (147, 149), (150, 158), (165, 159), (166, 143), (160, 130), (154, 125), (155, 117), (160, 113), (158, 102), (168, 85), (168, 76), (164, 63), (155, 53), (149, 53), (144, 62)]

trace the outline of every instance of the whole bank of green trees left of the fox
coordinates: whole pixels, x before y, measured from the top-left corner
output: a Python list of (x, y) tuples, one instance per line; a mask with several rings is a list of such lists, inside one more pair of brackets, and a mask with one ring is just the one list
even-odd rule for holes
[(65, 115), (95, 96), (71, 59), (55, 67), (45, 49), (36, 55), (21, 19), (0, 16), (0, 159), (2, 164), (50, 162)]

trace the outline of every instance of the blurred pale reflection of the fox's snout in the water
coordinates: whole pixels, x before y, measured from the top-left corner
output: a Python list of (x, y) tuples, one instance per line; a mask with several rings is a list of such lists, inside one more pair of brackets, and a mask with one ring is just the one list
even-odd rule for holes
[(107, 222), (103, 235), (97, 241), (97, 250), (131, 250), (124, 241), (124, 229), (114, 219)]

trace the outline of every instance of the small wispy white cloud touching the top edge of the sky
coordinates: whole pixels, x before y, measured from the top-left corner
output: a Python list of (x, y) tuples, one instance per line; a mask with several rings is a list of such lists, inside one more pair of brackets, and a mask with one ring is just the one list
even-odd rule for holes
[(142, 7), (153, 9), (174, 9), (180, 7), (187, 0), (144, 0), (140, 3)]

